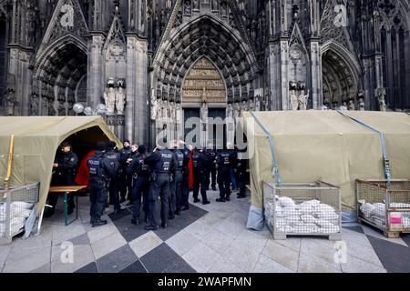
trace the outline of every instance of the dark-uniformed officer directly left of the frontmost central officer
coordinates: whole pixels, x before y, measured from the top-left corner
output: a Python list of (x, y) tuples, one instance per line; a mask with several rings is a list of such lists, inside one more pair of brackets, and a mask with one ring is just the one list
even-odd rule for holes
[(145, 222), (149, 221), (149, 166), (144, 163), (147, 154), (145, 146), (138, 146), (138, 156), (134, 156), (127, 167), (127, 176), (131, 178), (132, 200), (134, 211), (131, 224), (139, 226), (139, 213), (141, 209), (141, 198), (143, 198), (143, 210)]

